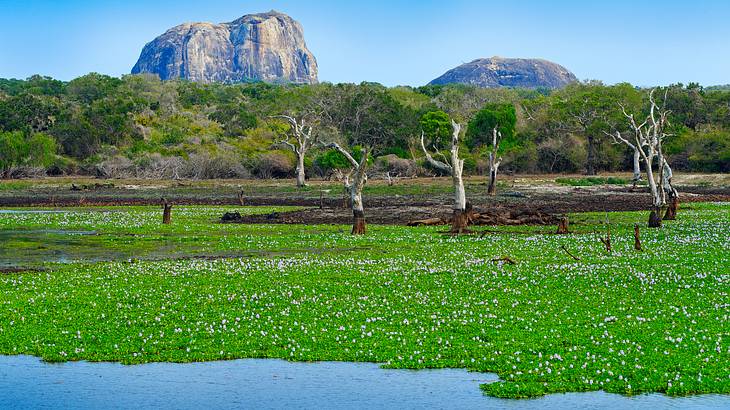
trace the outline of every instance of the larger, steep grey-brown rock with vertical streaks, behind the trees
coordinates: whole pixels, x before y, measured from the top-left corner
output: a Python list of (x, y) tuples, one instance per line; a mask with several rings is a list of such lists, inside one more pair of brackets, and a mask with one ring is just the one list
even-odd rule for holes
[(163, 80), (316, 83), (317, 60), (307, 49), (301, 24), (276, 11), (249, 14), (230, 23), (185, 23), (143, 49), (132, 74)]

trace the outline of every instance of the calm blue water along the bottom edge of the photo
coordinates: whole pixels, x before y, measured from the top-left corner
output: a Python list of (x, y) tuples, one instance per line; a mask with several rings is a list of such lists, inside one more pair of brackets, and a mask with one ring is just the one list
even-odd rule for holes
[(391, 370), (372, 363), (246, 359), (207, 363), (48, 364), (0, 356), (0, 408), (133, 409), (718, 409), (730, 396), (623, 397), (603, 392), (532, 400), (482, 395), (493, 374)]

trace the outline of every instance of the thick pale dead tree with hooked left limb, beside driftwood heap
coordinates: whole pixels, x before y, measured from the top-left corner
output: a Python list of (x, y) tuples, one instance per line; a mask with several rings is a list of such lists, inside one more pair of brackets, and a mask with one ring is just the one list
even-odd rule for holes
[(442, 155), (444, 157), (443, 161), (433, 158), (426, 149), (423, 132), (421, 132), (421, 148), (423, 149), (423, 153), (426, 155), (426, 161), (428, 161), (431, 166), (451, 175), (451, 180), (454, 185), (454, 220), (451, 224), (451, 232), (458, 234), (463, 233), (466, 230), (469, 219), (466, 212), (466, 191), (464, 190), (464, 179), (462, 177), (464, 172), (464, 160), (459, 158), (459, 134), (461, 133), (461, 125), (457, 124), (456, 121), (451, 120), (451, 127), (453, 129), (453, 134), (451, 137), (450, 160), (446, 159), (445, 155)]

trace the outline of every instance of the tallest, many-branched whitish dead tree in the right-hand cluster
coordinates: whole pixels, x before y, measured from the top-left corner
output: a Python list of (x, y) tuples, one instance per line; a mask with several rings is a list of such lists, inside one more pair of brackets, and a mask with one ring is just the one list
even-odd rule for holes
[[(665, 128), (668, 125), (669, 111), (656, 103), (654, 100), (654, 91), (652, 90), (649, 93), (649, 102), (651, 104), (650, 113), (641, 123), (637, 122), (634, 114), (627, 113), (624, 106), (621, 106), (624, 116), (628, 119), (631, 130), (633, 131), (633, 138), (624, 137), (618, 131), (611, 136), (614, 138), (614, 141), (638, 150), (639, 155), (644, 160), (646, 180), (649, 183), (649, 190), (652, 196), (649, 227), (658, 228), (662, 225), (661, 209), (667, 203), (664, 188), (664, 174), (667, 173), (665, 168), (669, 168), (669, 165), (666, 163), (664, 152), (662, 151), (662, 142), (668, 135), (665, 132)], [(655, 160), (659, 165), (659, 173), (656, 176), (652, 168)], [(668, 172), (671, 174), (671, 168), (669, 168)]]

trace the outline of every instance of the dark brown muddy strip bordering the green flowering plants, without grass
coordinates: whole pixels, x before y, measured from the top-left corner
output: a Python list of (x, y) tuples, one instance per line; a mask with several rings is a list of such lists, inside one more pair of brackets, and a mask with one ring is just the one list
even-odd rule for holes
[[(730, 187), (686, 186), (680, 188), (680, 202), (730, 202)], [(89, 190), (28, 190), (0, 196), (0, 207), (76, 207), (160, 205), (165, 197), (175, 205), (231, 206), (304, 206), (309, 209), (269, 215), (248, 215), (238, 223), (349, 224), (352, 213), (339, 194), (319, 197), (315, 192), (249, 192), (239, 198), (235, 192), (210, 189), (206, 192), (146, 190), (144, 192), (101, 186)], [(512, 188), (496, 197), (469, 196), (474, 210), (495, 224), (552, 224), (555, 218), (573, 212), (641, 211), (651, 206), (645, 188), (627, 186)], [(365, 195), (365, 216), (369, 223), (405, 225), (414, 220), (451, 217), (451, 195)]]

